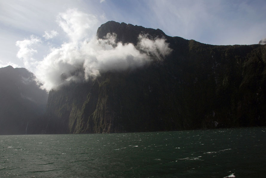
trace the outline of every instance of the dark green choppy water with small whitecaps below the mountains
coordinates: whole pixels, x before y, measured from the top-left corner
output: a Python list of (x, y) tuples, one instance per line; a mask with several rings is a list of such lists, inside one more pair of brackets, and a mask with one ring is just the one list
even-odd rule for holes
[(266, 128), (0, 136), (0, 177), (266, 177)]

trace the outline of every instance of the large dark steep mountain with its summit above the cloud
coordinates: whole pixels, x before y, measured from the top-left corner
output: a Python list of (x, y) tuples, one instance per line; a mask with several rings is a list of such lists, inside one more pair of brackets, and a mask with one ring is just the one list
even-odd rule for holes
[(51, 90), (46, 133), (114, 133), (266, 125), (266, 45), (207, 45), (160, 29), (109, 21), (135, 46), (139, 34), (164, 38), (172, 52), (135, 70), (106, 71)]

